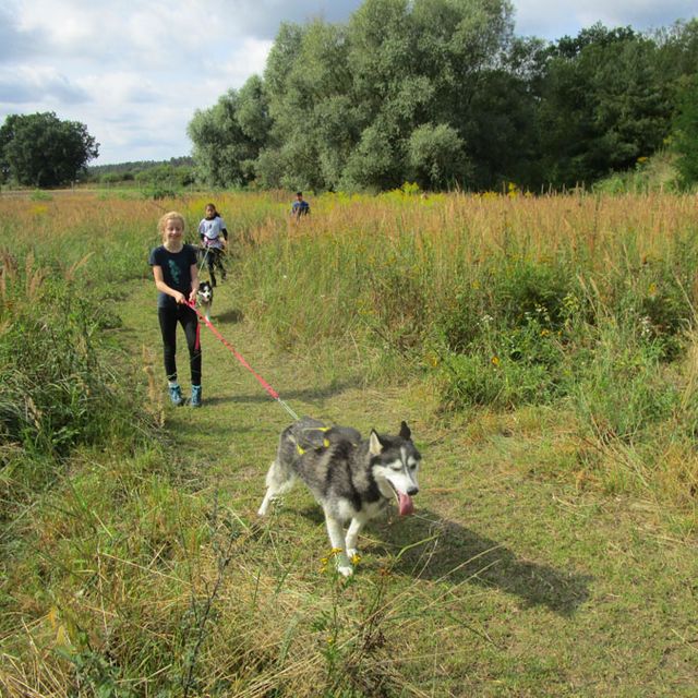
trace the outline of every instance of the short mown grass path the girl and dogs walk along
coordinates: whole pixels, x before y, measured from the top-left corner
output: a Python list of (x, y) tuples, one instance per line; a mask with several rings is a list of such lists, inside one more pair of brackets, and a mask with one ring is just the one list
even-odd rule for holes
[[(696, 541), (673, 534), (651, 503), (539, 474), (541, 454), (550, 461), (556, 453), (546, 435), (554, 416), (442, 424), (420, 386), (365, 385), (350, 362), (277, 352), (244, 322), (232, 286), (216, 292), (214, 323), (296, 412), (363, 433), (394, 431), (406, 419), (422, 450), (417, 516), (368, 530), (346, 592), (347, 603), (360, 604), (392, 570), (384, 602), (399, 613), (383, 629), (381, 657), (404, 688), (385, 695), (697, 695)], [(152, 351), (159, 380), (152, 285), (122, 315), (134, 348)], [(212, 500), (217, 492), (252, 521), (289, 417), (205, 327), (202, 340), (204, 408), (167, 406), (166, 424), (186, 486)], [(186, 393), (184, 356), (182, 339)], [(318, 571), (326, 537), (306, 493), (294, 491), (268, 526), (278, 531), (268, 555), (287, 587), (329, 593)]]

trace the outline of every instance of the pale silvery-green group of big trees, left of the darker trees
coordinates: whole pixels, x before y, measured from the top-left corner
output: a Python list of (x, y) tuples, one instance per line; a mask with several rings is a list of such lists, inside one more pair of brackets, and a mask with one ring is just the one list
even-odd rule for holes
[(466, 144), (481, 133), (469, 129), (464, 139), (474, 120), (462, 94), (477, 89), (510, 29), (504, 0), (368, 0), (348, 26), (284, 24), (264, 83), (243, 88), (244, 107), (242, 91), (229, 93), (226, 108), (190, 123), (200, 178), (312, 190), (393, 189), (406, 179), (465, 188)]

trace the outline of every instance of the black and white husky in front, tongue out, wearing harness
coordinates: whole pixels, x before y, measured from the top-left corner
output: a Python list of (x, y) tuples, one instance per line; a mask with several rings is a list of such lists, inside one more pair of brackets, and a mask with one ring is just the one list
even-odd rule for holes
[[(414, 510), (421, 456), (402, 422), (397, 436), (371, 431), (369, 438), (349, 426), (325, 426), (304, 417), (281, 433), (276, 459), (266, 474), (266, 494), (258, 515), (272, 500), (302, 480), (323, 507), (337, 569), (353, 573), (357, 539), (364, 524), (385, 510), (393, 497), (400, 515)], [(351, 520), (345, 534), (344, 525)]]

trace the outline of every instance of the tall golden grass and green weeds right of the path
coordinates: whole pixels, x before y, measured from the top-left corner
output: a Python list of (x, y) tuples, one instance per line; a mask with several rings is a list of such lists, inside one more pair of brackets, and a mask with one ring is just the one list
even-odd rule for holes
[(693, 197), (393, 192), (313, 210), (258, 228), (240, 265), (242, 305), (281, 347), (359, 346), (374, 375), (431, 380), (449, 410), (555, 406), (602, 468), (618, 444), (640, 462), (627, 486), (665, 496), (661, 434), (689, 464), (669, 496), (693, 502)]

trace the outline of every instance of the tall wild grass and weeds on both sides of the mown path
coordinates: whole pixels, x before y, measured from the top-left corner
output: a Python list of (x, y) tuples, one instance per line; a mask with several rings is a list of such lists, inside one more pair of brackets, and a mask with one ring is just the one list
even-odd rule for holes
[[(112, 301), (149, 277), (163, 210), (180, 209), (191, 236), (209, 198), (0, 200), (0, 686), (10, 696), (424, 695), (425, 674), (435, 690), (448, 686), (449, 658), (504, 661), (489, 623), (464, 621), (482, 603), (467, 582), (494, 541), (429, 524), (409, 550), (394, 543), (365, 583), (345, 585), (309, 566), (322, 525), (301, 551), (284, 516), (261, 528), (186, 486), (186, 464), (158, 438), (153, 373), (148, 393), (141, 352), (112, 338)], [(280, 348), (351, 347), (376, 381), (436, 386), (445, 414), (552, 408), (577, 435), (569, 459), (580, 472), (610, 491), (694, 505), (689, 197), (324, 195), (299, 224), (282, 193), (213, 201), (232, 237), (237, 303)], [(414, 590), (437, 544), (442, 562)], [(483, 559), (468, 567), (458, 545)], [(512, 553), (503, 559), (517, 566)], [(483, 587), (498, 579), (528, 599), (564, 589), (556, 611), (586, 598), (575, 575), (551, 594), (554, 571), (518, 567), (485, 570)]]

